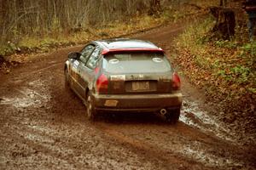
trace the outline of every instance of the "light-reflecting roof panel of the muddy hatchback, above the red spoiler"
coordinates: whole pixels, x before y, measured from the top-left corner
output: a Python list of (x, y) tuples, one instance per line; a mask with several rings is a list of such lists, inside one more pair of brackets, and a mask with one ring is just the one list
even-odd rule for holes
[(129, 38), (115, 38), (97, 41), (102, 43), (104, 48), (118, 49), (118, 48), (158, 48), (152, 42), (129, 39)]

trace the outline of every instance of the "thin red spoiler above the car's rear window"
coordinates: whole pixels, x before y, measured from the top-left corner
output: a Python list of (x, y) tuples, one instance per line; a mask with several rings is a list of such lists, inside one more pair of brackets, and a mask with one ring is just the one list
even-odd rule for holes
[(118, 52), (152, 52), (152, 53), (165, 53), (162, 48), (105, 48), (102, 50), (102, 55), (109, 53), (118, 53)]

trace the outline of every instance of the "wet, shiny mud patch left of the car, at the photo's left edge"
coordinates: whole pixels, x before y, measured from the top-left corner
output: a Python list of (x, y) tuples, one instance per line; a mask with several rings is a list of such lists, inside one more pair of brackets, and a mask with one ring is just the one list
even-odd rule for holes
[(49, 90), (45, 88), (43, 82), (37, 80), (29, 82), (28, 84), (32, 88), (44, 91), (44, 94), (33, 90), (32, 88), (15, 88), (15, 97), (1, 97), (0, 105), (13, 105), (16, 108), (25, 108), (29, 106), (38, 107), (49, 101), (49, 94), (45, 94), (45, 92), (48, 92)]

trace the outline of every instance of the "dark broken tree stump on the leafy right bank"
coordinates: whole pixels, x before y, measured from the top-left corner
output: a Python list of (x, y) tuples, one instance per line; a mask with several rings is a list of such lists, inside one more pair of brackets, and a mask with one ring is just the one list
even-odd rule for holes
[(230, 8), (212, 7), (211, 13), (216, 19), (212, 31), (216, 37), (230, 40), (235, 35), (236, 19), (235, 13)]

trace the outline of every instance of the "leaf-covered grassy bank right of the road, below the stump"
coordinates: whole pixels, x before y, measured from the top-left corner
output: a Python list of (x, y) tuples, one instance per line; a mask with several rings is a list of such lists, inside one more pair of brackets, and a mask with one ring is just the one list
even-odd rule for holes
[(176, 61), (185, 76), (205, 89), (224, 111), (253, 116), (256, 100), (256, 42), (211, 39), (211, 17), (197, 21), (177, 37)]

